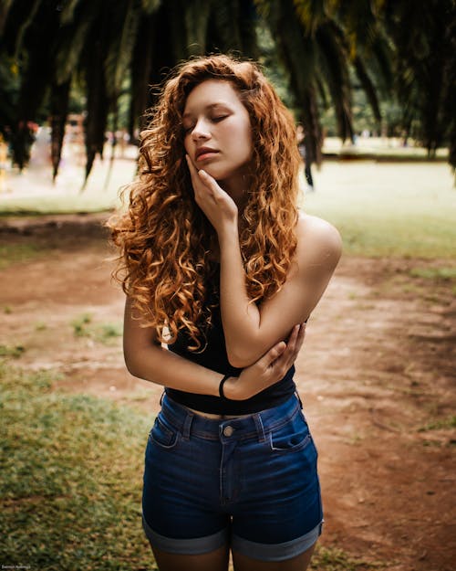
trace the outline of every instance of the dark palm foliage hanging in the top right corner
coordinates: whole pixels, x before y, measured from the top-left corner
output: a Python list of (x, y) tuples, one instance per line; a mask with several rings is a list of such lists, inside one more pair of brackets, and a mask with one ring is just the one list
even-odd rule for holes
[(456, 167), (456, 3), (388, 0), (384, 10), (396, 50), (395, 87), (404, 130), (430, 156), (448, 142)]

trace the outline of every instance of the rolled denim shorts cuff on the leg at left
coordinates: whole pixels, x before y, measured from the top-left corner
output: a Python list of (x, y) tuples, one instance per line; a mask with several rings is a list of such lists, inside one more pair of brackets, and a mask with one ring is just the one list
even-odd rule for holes
[(204, 553), (211, 553), (219, 549), (219, 547), (222, 547), (222, 545), (226, 545), (229, 539), (228, 528), (222, 529), (216, 534), (192, 539), (165, 537), (164, 535), (154, 532), (146, 522), (144, 516), (142, 516), (142, 527), (152, 547), (157, 547), (161, 549), (161, 551), (175, 555), (202, 555)]

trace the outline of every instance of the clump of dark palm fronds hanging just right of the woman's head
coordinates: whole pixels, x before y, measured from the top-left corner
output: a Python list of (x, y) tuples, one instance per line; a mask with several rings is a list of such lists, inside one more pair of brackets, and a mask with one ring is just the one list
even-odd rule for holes
[[(389, 46), (378, 25), (379, 2), (327, 0), (257, 0), (273, 31), (289, 74), (298, 119), (306, 132), (306, 154), (321, 160), (319, 103), (334, 107), (337, 134), (353, 139), (350, 67), (358, 76), (380, 122), (376, 76), (389, 82)], [(375, 67), (377, 66), (377, 67)]]

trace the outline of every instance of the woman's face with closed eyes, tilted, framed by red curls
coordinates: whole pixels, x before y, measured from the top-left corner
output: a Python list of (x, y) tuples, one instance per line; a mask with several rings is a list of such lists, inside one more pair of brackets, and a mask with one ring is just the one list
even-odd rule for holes
[[(189, 94), (183, 111), (184, 146), (197, 169), (227, 191), (244, 191), (252, 157), (250, 117), (231, 83), (207, 79)], [(231, 193), (230, 193), (231, 194)]]

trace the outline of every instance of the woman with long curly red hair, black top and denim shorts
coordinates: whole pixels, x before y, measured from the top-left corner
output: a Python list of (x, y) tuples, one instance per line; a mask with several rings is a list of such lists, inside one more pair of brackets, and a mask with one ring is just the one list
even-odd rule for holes
[[(316, 449), (295, 394), (337, 230), (296, 210), (295, 124), (250, 62), (177, 70), (110, 226), (132, 375), (165, 386), (143, 525), (161, 571), (304, 571), (321, 531)], [(272, 563), (274, 562), (274, 563)]]

